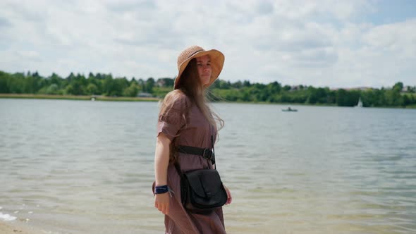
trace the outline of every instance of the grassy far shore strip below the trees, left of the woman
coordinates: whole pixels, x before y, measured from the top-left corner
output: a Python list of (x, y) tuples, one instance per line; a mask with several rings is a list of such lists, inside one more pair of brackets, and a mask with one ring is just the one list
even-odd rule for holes
[(157, 97), (105, 97), (105, 96), (75, 96), (75, 95), (47, 95), (47, 94), (0, 94), (0, 98), (20, 99), (64, 99), (84, 101), (159, 101)]

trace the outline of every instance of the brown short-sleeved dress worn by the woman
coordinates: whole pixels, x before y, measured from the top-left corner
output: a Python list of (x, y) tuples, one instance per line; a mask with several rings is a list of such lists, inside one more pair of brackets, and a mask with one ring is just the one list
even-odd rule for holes
[[(187, 113), (185, 110), (190, 109)], [(185, 113), (185, 118), (183, 118)], [(212, 137), (216, 139), (216, 129), (207, 121), (200, 109), (192, 105), (190, 99), (181, 94), (173, 105), (159, 115), (157, 134), (164, 133), (175, 144), (192, 147), (211, 148)], [(212, 164), (202, 156), (183, 154), (178, 156), (182, 171), (208, 168)], [(168, 167), (168, 186), (174, 194), (169, 203), (169, 214), (165, 215), (166, 233), (226, 233), (222, 208), (209, 214), (192, 214), (181, 203), (180, 177), (173, 164)]]

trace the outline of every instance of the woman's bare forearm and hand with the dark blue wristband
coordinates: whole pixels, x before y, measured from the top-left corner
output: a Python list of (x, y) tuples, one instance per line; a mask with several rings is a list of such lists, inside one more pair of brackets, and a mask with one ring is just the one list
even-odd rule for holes
[[(168, 184), (169, 146), (171, 140), (160, 133), (156, 139), (156, 150), (154, 153), (154, 178), (156, 186)], [(154, 207), (163, 214), (169, 214), (169, 192), (155, 195)]]

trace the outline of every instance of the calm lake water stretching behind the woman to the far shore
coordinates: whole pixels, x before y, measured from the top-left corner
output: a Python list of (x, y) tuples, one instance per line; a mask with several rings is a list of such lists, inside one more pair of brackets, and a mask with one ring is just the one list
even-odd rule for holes
[[(51, 233), (163, 233), (157, 105), (0, 99), (0, 213)], [(416, 110), (286, 107), (214, 104), (228, 233), (416, 233)]]

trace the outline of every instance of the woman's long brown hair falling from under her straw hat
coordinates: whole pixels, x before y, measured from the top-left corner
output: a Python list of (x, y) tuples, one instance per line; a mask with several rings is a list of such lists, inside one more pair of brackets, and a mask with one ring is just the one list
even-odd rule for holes
[[(207, 121), (212, 126), (214, 126), (216, 131), (218, 131), (224, 127), (224, 121), (209, 107), (207, 92), (208, 89), (203, 87), (200, 81), (200, 75), (197, 70), (197, 60), (196, 58), (192, 58), (192, 60), (189, 61), (188, 66), (186, 66), (185, 70), (183, 70), (181, 79), (178, 82), (177, 89), (169, 92), (169, 94), (167, 94), (164, 98), (164, 101), (161, 104), (159, 115), (165, 113), (169, 107), (172, 106), (173, 101), (178, 99), (178, 97), (181, 97), (181, 95), (185, 94), (187, 97), (189, 97), (191, 103), (186, 107), (182, 118), (184, 118), (186, 121), (185, 113), (188, 113), (190, 107), (195, 104), (198, 109), (200, 109), (204, 117), (207, 118)], [(175, 142), (172, 142), (170, 161), (176, 159), (175, 147)]]

